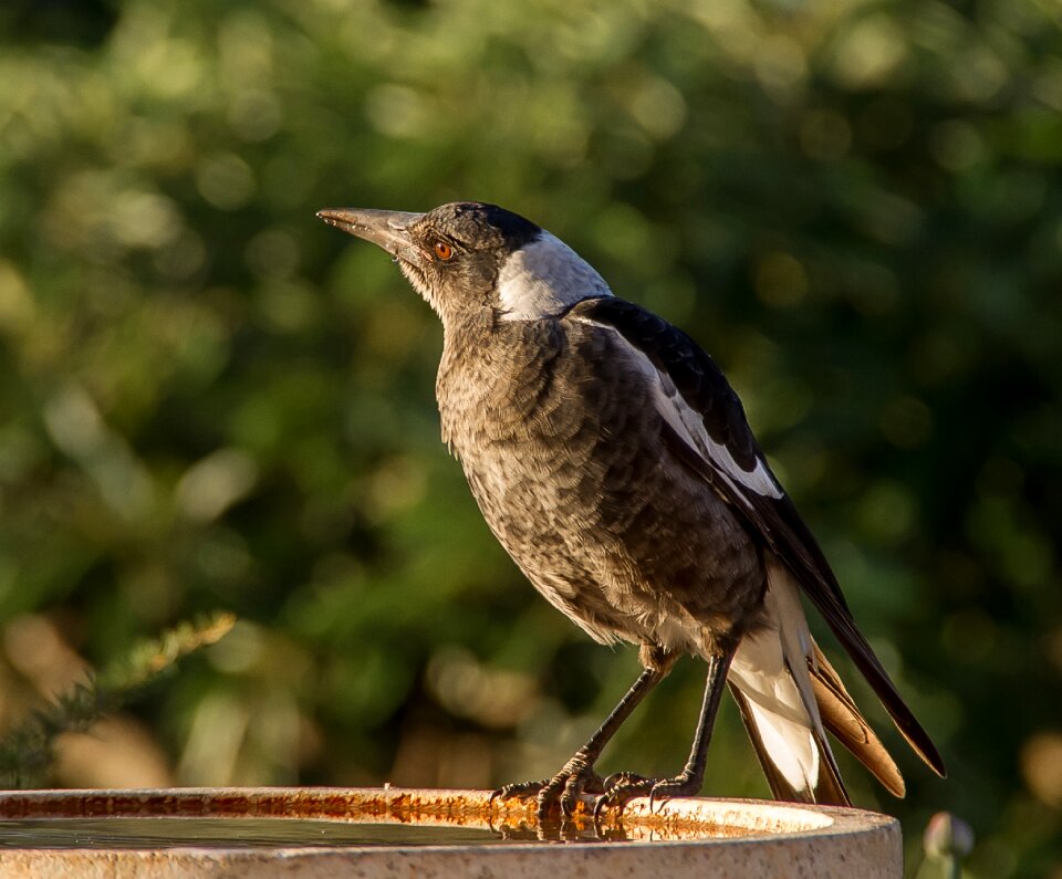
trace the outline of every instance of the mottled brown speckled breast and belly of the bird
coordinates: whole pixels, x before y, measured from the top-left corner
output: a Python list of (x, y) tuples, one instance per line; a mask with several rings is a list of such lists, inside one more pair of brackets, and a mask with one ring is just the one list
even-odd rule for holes
[(598, 640), (704, 653), (739, 636), (763, 592), (759, 550), (660, 447), (618, 336), (565, 316), (465, 317), (446, 327), (442, 436), (528, 578)]

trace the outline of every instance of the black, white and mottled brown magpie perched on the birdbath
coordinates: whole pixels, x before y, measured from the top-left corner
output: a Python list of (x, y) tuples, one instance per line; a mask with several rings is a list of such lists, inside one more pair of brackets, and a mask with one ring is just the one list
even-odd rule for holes
[[(853, 618), (738, 395), (686, 333), (613, 293), (572, 248), (497, 205), (330, 208), (386, 251), (442, 324), (442, 440), (494, 536), (539, 593), (642, 672), (550, 778), (497, 797), (571, 819), (697, 795), (729, 689), (775, 799), (851, 805), (826, 732), (896, 796), (904, 778), (812, 638), (825, 618), (907, 743), (945, 765)], [(595, 768), (683, 656), (707, 665), (689, 757), (670, 778)], [(585, 807), (585, 806), (584, 806)]]

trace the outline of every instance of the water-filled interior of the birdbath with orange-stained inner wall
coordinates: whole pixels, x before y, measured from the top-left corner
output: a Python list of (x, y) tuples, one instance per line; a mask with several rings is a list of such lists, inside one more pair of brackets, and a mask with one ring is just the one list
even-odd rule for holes
[[(482, 792), (327, 788), (7, 792), (2, 849), (372, 848), (756, 837), (767, 827), (611, 812), (542, 824)], [(644, 812), (644, 810), (643, 810)]]

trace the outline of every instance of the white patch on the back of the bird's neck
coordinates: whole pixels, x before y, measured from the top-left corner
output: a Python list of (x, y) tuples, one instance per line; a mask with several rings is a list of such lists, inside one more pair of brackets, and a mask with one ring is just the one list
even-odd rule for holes
[(544, 229), (513, 252), (498, 275), (504, 321), (549, 317), (582, 300), (611, 295), (597, 270)]

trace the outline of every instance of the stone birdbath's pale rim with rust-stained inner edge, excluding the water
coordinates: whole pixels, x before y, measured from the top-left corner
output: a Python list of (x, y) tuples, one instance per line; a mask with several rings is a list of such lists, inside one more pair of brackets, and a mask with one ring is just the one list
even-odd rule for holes
[[(0, 823), (9, 827), (30, 819), (281, 818), (489, 828), (502, 838), (489, 845), (399, 843), (316, 848), (283, 844), (248, 848), (238, 845), (238, 837), (228, 846), (188, 843), (164, 849), (0, 847), (0, 871), (6, 876), (58, 877), (71, 871), (91, 873), (105, 864), (107, 876), (136, 876), (149, 867), (152, 875), (184, 877), (211, 875), (217, 868), (217, 875), (268, 879), (285, 875), (282, 865), (290, 867), (298, 861), (308, 877), (334, 875), (341, 867), (350, 869), (355, 864), (366, 877), (373, 877), (387, 875), (388, 865), (398, 858), (416, 864), (417, 875), (423, 876), (464, 875), (472, 869), (469, 865), (475, 865), (477, 875), (489, 877), (535, 876), (546, 870), (582, 870), (586, 877), (604, 877), (633, 867), (676, 877), (700, 875), (697, 871), (706, 869), (714, 876), (739, 877), (791, 875), (798, 865), (811, 870), (808, 875), (824, 879), (856, 873), (861, 879), (893, 879), (902, 875), (899, 825), (895, 818), (877, 813), (709, 797), (664, 800), (654, 804), (653, 812), (648, 805), (646, 798), (634, 799), (622, 818), (604, 816), (602, 827), (606, 831), (622, 823), (625, 841), (614, 844), (605, 835), (600, 841), (579, 844), (583, 840), (575, 834), (562, 841), (576, 845), (543, 845), (534, 837), (532, 804), (519, 799), (491, 802), (487, 791), (389, 785), (10, 791), (0, 793)], [(584, 798), (571, 823), (573, 827), (593, 825), (592, 806), (593, 798)], [(513, 838), (504, 836), (507, 828), (531, 828), (531, 833)], [(466, 866), (458, 868), (457, 864)], [(727, 865), (740, 870), (728, 872)], [(780, 873), (781, 865), (784, 870)]]

